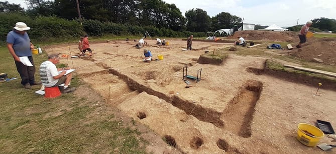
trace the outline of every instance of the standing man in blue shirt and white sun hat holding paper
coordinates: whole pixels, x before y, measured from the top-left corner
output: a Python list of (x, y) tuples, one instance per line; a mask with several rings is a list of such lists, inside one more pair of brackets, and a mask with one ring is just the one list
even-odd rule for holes
[(41, 84), (35, 82), (35, 65), (32, 56), (33, 43), (28, 33), (30, 27), (24, 22), (17, 22), (12, 31), (7, 34), (7, 48), (14, 57), (17, 70), (21, 76), (21, 84), (30, 89), (31, 85)]

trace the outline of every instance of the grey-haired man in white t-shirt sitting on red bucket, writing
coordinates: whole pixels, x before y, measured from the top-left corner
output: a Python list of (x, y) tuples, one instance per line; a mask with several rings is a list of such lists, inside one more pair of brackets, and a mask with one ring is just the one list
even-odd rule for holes
[[(56, 63), (59, 62), (58, 54), (48, 55), (48, 60), (44, 61), (40, 65), (40, 77), (42, 84), (46, 87), (54, 87), (64, 83), (62, 89), (63, 93), (72, 92), (76, 90), (75, 87), (70, 88), (68, 85), (71, 80), (71, 73), (64, 75), (66, 70), (70, 68), (57, 68)], [(63, 70), (63, 71), (62, 71)], [(58, 71), (61, 71), (60, 73)]]

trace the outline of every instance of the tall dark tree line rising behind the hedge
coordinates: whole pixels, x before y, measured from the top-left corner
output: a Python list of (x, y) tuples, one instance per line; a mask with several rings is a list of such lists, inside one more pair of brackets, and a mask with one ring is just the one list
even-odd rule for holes
[[(200, 8), (185, 12), (162, 0), (78, 0), (81, 18), (128, 25), (155, 26), (174, 31), (206, 32), (232, 28), (242, 18), (229, 12), (210, 17)], [(76, 0), (26, 0), (25, 10), (19, 4), (0, 2), (0, 12), (21, 12), (28, 16), (57, 16), (79, 19)]]

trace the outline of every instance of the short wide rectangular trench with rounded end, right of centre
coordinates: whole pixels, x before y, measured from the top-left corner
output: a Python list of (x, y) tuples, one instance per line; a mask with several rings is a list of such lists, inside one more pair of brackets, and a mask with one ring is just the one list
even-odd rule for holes
[(260, 81), (248, 80), (241, 87), (239, 93), (223, 111), (222, 119), (225, 121), (225, 129), (242, 137), (251, 137), (251, 122), (262, 86)]

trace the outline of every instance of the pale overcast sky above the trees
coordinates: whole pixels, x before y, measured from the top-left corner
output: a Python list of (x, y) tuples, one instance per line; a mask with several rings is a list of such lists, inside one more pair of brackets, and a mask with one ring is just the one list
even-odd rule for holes
[[(6, 1), (6, 0), (0, 0)], [(9, 3), (20, 3), (25, 0), (8, 0)], [(319, 18), (336, 18), (336, 0), (163, 0), (174, 3), (184, 15), (192, 8), (201, 8), (212, 17), (224, 11), (244, 18), (244, 23), (256, 23), (280, 26), (296, 25)]]

